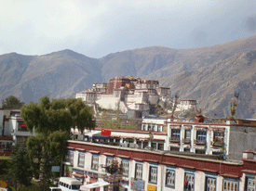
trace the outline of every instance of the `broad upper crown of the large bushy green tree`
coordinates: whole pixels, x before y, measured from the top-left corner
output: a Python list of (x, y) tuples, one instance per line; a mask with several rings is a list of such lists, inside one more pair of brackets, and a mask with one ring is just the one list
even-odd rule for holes
[(35, 128), (38, 134), (50, 134), (55, 131), (70, 131), (77, 126), (83, 132), (85, 128), (94, 129), (95, 121), (90, 108), (82, 99), (40, 98), (39, 103), (31, 102), (21, 108), (21, 117), (30, 132)]

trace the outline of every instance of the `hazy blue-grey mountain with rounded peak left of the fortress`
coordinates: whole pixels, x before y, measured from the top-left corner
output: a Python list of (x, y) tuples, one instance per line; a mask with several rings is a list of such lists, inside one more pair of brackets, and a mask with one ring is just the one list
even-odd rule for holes
[[(2, 61), (0, 97), (18, 96), (28, 103), (37, 102), (41, 96), (74, 96), (76, 92), (88, 88), (92, 83), (101, 82), (101, 64), (97, 59), (85, 57), (70, 50), (63, 50), (44, 56), (19, 57), (19, 61)], [(20, 61), (22, 60), (22, 62)], [(14, 67), (14, 63), (17, 63)], [(20, 64), (19, 64), (20, 63)], [(5, 69), (5, 70), (3, 70)], [(8, 81), (14, 81), (9, 83)]]

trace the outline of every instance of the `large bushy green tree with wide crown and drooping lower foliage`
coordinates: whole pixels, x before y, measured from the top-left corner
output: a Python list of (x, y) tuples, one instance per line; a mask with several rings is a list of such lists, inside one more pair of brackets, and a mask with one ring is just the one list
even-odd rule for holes
[[(95, 121), (90, 108), (82, 99), (52, 99), (48, 96), (40, 98), (39, 103), (31, 102), (21, 108), (21, 117), (30, 132), (37, 134), (27, 141), (29, 159), (34, 176), (43, 173), (41, 188), (44, 190), (49, 181), (60, 173), (51, 172), (52, 166), (61, 166), (66, 154), (66, 141), (70, 138), (71, 127), (83, 132), (85, 128), (94, 129)], [(38, 162), (34, 162), (34, 158)], [(43, 159), (43, 160), (41, 160)], [(43, 169), (40, 171), (40, 163)]]

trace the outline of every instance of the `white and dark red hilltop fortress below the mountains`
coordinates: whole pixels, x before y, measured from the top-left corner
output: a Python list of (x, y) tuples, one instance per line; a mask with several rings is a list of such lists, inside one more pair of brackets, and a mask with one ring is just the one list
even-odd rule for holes
[[(109, 83), (93, 83), (93, 86), (75, 95), (88, 105), (119, 109), (123, 113), (136, 112), (136, 116), (149, 110), (149, 104), (171, 101), (170, 89), (159, 87), (155, 80), (141, 80), (139, 77), (115, 77)], [(140, 114), (139, 114), (140, 115)]]

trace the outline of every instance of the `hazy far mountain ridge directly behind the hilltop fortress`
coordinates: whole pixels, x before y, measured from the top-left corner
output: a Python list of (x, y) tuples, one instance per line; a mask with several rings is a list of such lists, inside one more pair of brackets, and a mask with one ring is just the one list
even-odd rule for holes
[(128, 50), (100, 59), (102, 77), (105, 81), (121, 75), (159, 79), (183, 70), (200, 69), (239, 52), (252, 50), (256, 50), (256, 36), (222, 45), (183, 50), (159, 46)]

